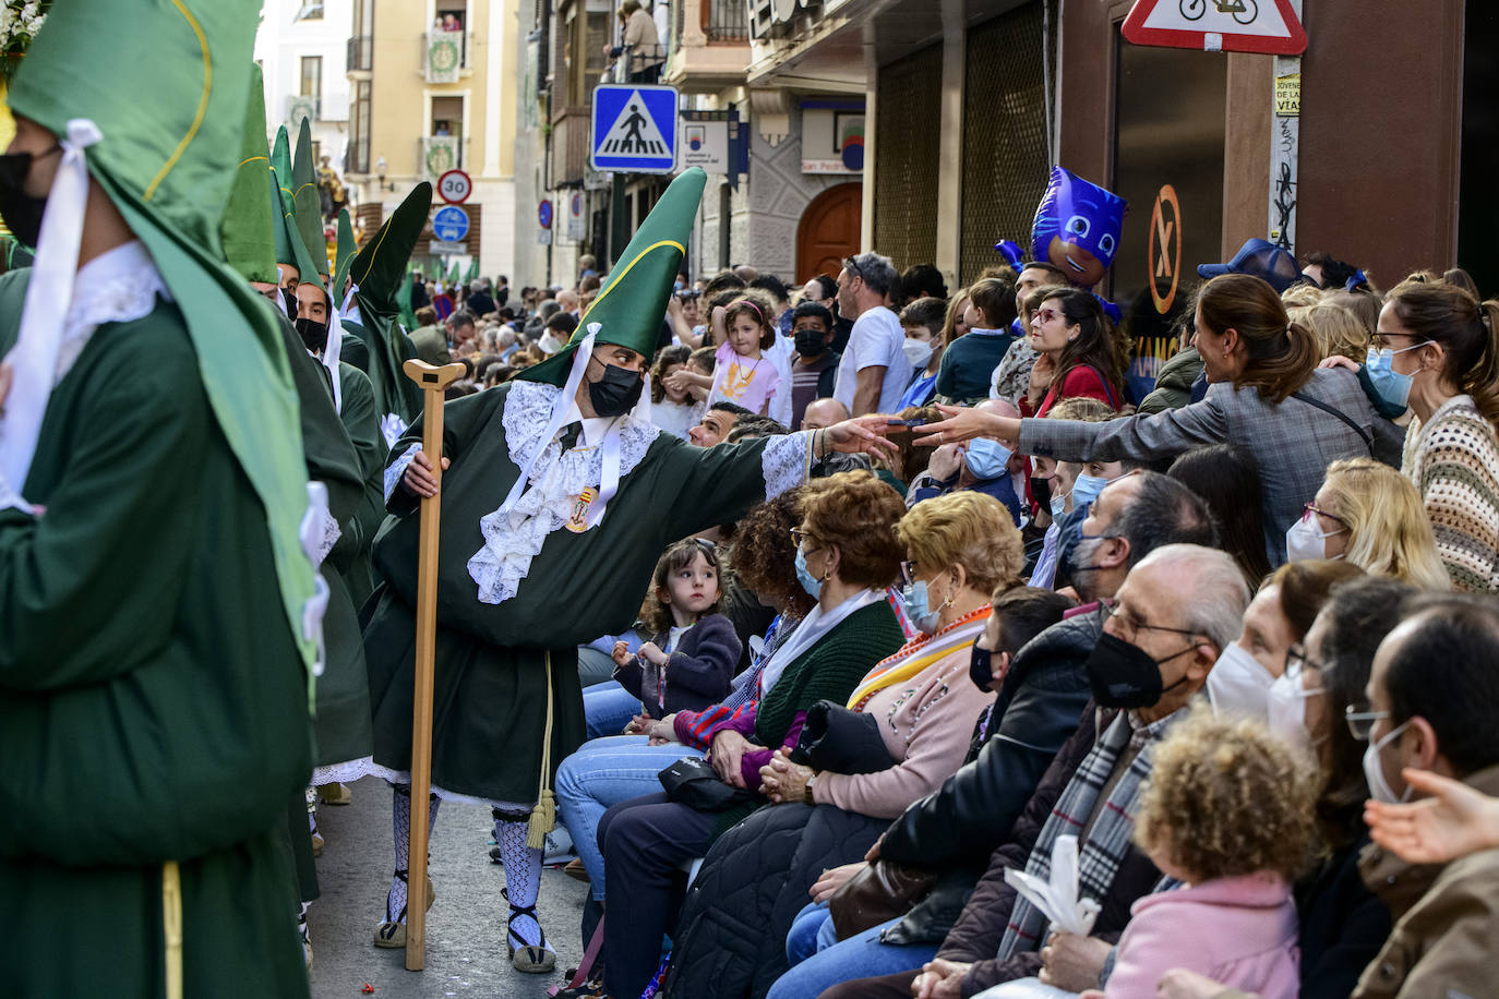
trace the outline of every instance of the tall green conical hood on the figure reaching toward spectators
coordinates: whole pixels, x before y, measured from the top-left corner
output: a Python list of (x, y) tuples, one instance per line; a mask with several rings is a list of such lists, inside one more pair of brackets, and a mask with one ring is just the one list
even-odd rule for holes
[(708, 174), (697, 166), (672, 181), (661, 201), (640, 223), (630, 246), (615, 261), (609, 280), (583, 313), (573, 338), (553, 356), (516, 377), (564, 385), (573, 367), (573, 352), (591, 331), (597, 333), (595, 346), (616, 343), (643, 353), (649, 362), (661, 335), (666, 300), (672, 295), (672, 285), (687, 256), (687, 241), (706, 183)]

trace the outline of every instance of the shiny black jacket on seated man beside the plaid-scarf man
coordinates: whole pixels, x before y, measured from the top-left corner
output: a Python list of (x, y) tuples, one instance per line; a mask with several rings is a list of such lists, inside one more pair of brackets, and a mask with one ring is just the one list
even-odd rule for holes
[(1081, 614), (1052, 625), (1021, 649), (994, 702), (998, 731), (979, 758), (890, 824), (880, 855), (943, 872), (925, 900), (881, 935), (886, 944), (940, 944), (962, 912), (989, 854), (1036, 791), (1061, 744), (1076, 731), (1088, 702), (1088, 653), (1099, 617)]

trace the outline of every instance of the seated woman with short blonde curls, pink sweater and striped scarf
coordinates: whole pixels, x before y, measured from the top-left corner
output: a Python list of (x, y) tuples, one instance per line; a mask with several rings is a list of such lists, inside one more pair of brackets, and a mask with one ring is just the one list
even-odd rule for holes
[(818, 875), (863, 857), (967, 755), (992, 701), (967, 680), (971, 649), (991, 595), (1019, 586), (1019, 532), (992, 499), (953, 493), (913, 508), (896, 533), (908, 559), (905, 616), (920, 634), (847, 698), (850, 711), (878, 719), (865, 752), (880, 759), (839, 773), (778, 752), (761, 768), (761, 791), (781, 807), (760, 809), (708, 852), (682, 908), (669, 995), (763, 995), (785, 969), (787, 930)]

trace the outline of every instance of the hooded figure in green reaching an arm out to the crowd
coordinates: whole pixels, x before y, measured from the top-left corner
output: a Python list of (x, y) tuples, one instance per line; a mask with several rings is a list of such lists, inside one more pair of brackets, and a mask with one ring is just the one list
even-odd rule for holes
[[(516, 885), (535, 885), (525, 866), (540, 864), (552, 777), (585, 737), (577, 646), (634, 623), (669, 544), (797, 485), (811, 463), (811, 433), (703, 449), (649, 419), (643, 373), (705, 180), (690, 169), (663, 193), (556, 356), (444, 407), (451, 466), (441, 493), (432, 786), (499, 809), (508, 948), (523, 971), (555, 960), (529, 909), (534, 888)], [(397, 785), (411, 767), (420, 518), (408, 473), (421, 430), (418, 419), (391, 448), (385, 505), (394, 517), (375, 539), (384, 583), (364, 629), (370, 770)], [(880, 634), (895, 652), (899, 629), (881, 613)], [(726, 695), (724, 680), (697, 707)], [(667, 710), (681, 695), (666, 695)], [(657, 707), (652, 696), (643, 710)], [(403, 833), (396, 855), (406, 855)], [(381, 945), (405, 941), (403, 875), (391, 881)]]

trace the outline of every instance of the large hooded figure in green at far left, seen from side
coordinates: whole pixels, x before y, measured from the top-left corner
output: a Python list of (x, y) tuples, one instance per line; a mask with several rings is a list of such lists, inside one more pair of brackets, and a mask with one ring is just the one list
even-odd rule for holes
[[(10, 87), (49, 225), (0, 279), (6, 995), (307, 995), (276, 830), (312, 767), (327, 515), (282, 330), (220, 241), (259, 6), (57, 4)], [(133, 294), (58, 322), (105, 282)]]

